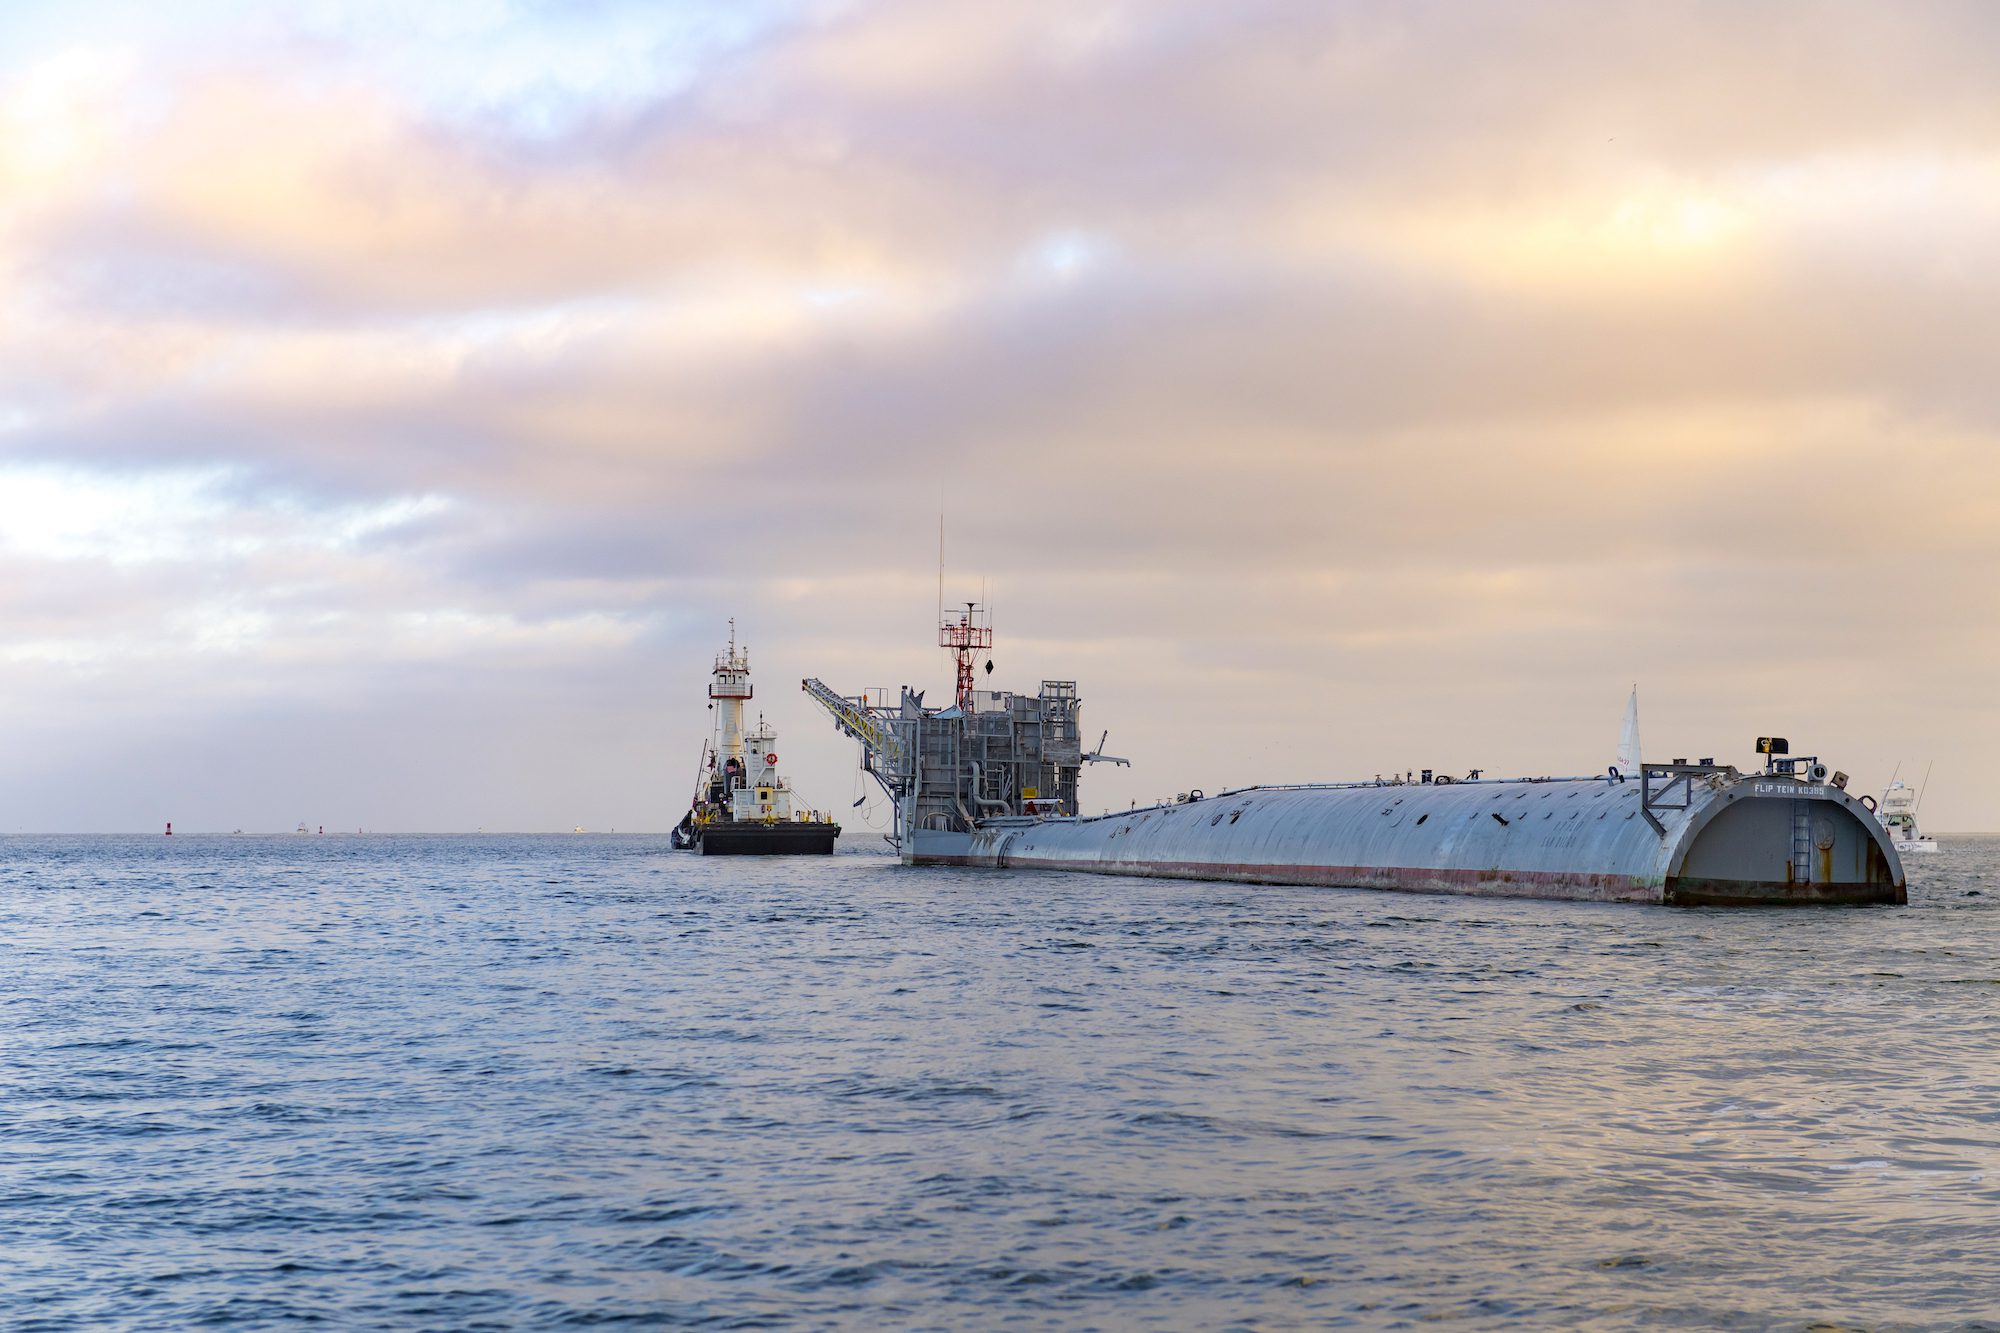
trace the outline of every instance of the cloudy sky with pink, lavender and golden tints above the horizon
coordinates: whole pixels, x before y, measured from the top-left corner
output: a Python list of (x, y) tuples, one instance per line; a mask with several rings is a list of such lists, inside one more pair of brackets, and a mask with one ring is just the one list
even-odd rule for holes
[[(22, 12), (30, 8), (30, 12)], [(0, 10), (0, 829), (666, 829), (798, 693), (1188, 787), (1782, 733), (2000, 829), (2000, 8)]]

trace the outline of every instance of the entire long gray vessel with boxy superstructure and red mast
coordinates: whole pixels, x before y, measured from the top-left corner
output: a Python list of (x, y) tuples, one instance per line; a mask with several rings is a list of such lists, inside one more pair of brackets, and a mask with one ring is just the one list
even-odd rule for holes
[(908, 687), (888, 703), (802, 683), (860, 741), (904, 863), (1682, 907), (1904, 901), (1896, 849), (1846, 775), (1792, 759), (1782, 737), (1758, 741), (1750, 773), (1710, 759), (1578, 779), (1412, 771), (1084, 817), (1082, 765), (1124, 761), (1102, 739), (1084, 753), (1074, 681), (974, 691), (990, 634), (970, 604), (940, 628), (958, 658), (946, 709)]

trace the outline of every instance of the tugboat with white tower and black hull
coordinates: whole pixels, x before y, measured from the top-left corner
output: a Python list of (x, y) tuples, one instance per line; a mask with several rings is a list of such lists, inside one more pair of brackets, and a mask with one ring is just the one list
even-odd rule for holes
[(826, 857), (840, 825), (818, 811), (792, 805), (792, 787), (778, 773), (778, 737), (758, 717), (744, 733), (750, 701), (750, 652), (736, 644), (716, 654), (708, 681), (716, 711), (716, 737), (702, 745), (694, 803), (674, 829), (674, 847), (704, 857)]

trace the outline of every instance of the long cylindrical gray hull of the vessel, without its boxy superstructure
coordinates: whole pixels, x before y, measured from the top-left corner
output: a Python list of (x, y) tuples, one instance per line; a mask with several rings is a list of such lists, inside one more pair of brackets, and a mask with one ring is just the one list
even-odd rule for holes
[[(1902, 903), (1860, 803), (1828, 785), (1698, 777), (1642, 811), (1640, 783), (1252, 789), (1096, 819), (990, 821), (912, 861), (1672, 905)], [(1650, 815), (1650, 817), (1648, 817)], [(1654, 825), (1658, 821), (1658, 827)], [(1664, 829), (1664, 833), (1662, 833)]]

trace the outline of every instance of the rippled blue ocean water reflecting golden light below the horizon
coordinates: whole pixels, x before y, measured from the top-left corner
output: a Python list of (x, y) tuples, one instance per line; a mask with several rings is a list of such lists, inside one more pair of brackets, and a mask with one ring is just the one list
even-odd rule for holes
[(0, 839), (8, 1329), (2000, 1327), (1908, 909)]

